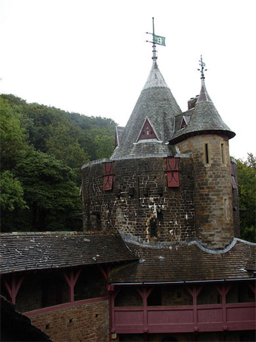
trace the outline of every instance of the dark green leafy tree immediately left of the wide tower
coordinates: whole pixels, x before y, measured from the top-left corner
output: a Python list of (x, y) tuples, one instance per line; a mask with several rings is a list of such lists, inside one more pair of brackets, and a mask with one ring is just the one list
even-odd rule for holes
[(4, 216), (3, 231), (82, 229), (80, 188), (71, 168), (53, 156), (27, 151), (20, 156), (15, 173), (29, 209)]

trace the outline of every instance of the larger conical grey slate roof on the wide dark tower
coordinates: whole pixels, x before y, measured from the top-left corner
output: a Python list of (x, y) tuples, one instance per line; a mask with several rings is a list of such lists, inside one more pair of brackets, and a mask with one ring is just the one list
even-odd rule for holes
[[(156, 60), (144, 88), (124, 129), (122, 139), (111, 159), (125, 155), (167, 153), (172, 155), (173, 147), (167, 145), (174, 131), (175, 115), (181, 109), (163, 79)], [(154, 139), (140, 139), (145, 121), (149, 122)]]

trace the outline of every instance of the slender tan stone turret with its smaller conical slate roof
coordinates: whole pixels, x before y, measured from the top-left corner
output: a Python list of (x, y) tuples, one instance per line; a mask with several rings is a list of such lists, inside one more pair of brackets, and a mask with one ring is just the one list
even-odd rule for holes
[(224, 247), (234, 236), (228, 140), (235, 134), (206, 90), (203, 67), (201, 60), (200, 95), (176, 117), (170, 143), (193, 156), (196, 236), (207, 246)]

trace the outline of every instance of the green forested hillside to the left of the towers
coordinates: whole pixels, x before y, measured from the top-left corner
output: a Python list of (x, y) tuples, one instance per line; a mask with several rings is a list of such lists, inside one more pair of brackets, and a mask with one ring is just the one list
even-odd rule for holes
[(81, 230), (81, 166), (108, 158), (115, 122), (0, 95), (1, 231)]

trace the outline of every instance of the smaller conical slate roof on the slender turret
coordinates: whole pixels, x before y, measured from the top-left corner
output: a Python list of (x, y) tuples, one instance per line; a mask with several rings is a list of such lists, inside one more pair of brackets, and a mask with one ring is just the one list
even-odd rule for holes
[[(187, 126), (181, 128), (182, 117), (189, 117)], [(204, 133), (224, 134), (229, 139), (235, 136), (235, 133), (225, 124), (215, 108), (202, 78), (201, 91), (197, 99), (195, 108), (192, 108), (183, 115), (175, 119), (175, 130), (171, 138), (171, 143), (184, 140), (189, 136)]]

